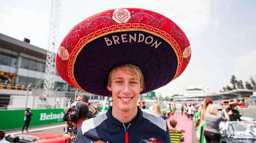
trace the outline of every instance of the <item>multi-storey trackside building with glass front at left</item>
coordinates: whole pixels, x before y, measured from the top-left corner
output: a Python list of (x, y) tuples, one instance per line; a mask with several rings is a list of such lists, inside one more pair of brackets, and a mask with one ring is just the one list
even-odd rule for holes
[[(0, 108), (24, 108), (27, 94), (28, 107), (38, 107), (43, 93), (46, 53), (47, 50), (29, 44), (26, 38), (20, 41), (0, 34)], [(27, 91), (30, 83), (32, 88)], [(54, 85), (60, 89), (54, 95), (61, 107), (70, 98), (74, 101), (76, 88), (62, 80), (57, 72)], [(54, 107), (55, 96), (47, 97), (47, 101), (48, 107)]]

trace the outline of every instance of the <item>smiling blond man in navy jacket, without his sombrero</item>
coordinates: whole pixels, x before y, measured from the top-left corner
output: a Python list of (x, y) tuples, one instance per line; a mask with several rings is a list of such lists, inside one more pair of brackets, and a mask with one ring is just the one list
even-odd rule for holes
[[(137, 107), (139, 93), (144, 89), (143, 81), (144, 76), (139, 67), (134, 65), (115, 67), (108, 75), (107, 84), (107, 88), (112, 94), (113, 107), (106, 114), (83, 122), (75, 142), (101, 140), (111, 143), (125, 140), (126, 143), (128, 141), (136, 143), (141, 139), (148, 139), (150, 136), (169, 143), (169, 128), (165, 120), (143, 113)], [(141, 134), (138, 138), (137, 135), (146, 130), (155, 132)]]

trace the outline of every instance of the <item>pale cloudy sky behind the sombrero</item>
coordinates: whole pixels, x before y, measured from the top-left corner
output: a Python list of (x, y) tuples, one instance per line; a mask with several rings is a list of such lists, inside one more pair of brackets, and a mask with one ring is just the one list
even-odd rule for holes
[[(0, 0), (0, 33), (48, 48), (51, 0)], [(219, 93), (237, 80), (256, 78), (255, 0), (62, 0), (59, 44), (80, 21), (109, 9), (143, 8), (165, 15), (186, 34), (191, 60), (179, 78), (155, 90), (183, 95), (188, 86)]]

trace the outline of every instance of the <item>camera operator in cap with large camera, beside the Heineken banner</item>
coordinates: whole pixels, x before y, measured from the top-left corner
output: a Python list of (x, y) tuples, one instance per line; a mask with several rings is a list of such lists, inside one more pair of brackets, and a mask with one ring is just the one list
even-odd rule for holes
[(81, 126), (82, 122), (88, 119), (88, 111), (89, 108), (83, 101), (76, 101), (72, 104), (71, 108), (67, 109), (69, 121), (73, 125), (71, 134), (66, 133), (64, 135), (65, 139), (70, 139), (69, 143), (74, 143), (79, 127)]

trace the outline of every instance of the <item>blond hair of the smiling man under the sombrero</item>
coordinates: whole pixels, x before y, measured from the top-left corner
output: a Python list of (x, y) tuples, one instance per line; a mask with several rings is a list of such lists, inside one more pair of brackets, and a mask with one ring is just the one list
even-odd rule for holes
[(119, 65), (117, 67), (114, 67), (110, 73), (108, 74), (108, 81), (107, 81), (107, 85), (109, 87), (111, 87), (111, 83), (114, 77), (114, 74), (117, 70), (121, 70), (126, 74), (132, 74), (132, 76), (134, 76), (136, 79), (138, 79), (140, 81), (140, 86), (141, 89), (144, 90), (145, 89), (145, 84), (144, 84), (144, 75), (142, 73), (142, 70), (135, 66), (135, 65)]

